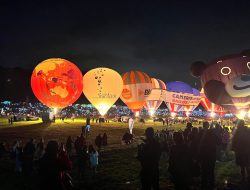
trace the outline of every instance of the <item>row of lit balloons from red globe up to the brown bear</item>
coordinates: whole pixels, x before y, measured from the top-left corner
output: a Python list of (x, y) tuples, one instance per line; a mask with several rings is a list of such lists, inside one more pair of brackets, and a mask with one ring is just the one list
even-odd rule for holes
[(96, 68), (84, 76), (72, 62), (51, 58), (39, 63), (31, 76), (31, 88), (37, 99), (50, 108), (73, 104), (83, 92), (90, 103), (105, 115), (120, 98), (135, 115), (145, 107), (151, 115), (165, 101), (174, 116), (185, 111), (187, 116), (201, 103), (207, 111), (223, 113), (221, 106), (206, 98), (190, 85), (175, 81), (164, 83), (141, 71), (122, 76), (109, 68)]

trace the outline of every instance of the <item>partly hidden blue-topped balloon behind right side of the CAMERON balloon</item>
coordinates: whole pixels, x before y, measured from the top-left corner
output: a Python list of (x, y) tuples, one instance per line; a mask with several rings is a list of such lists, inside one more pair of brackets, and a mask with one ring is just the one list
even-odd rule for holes
[(187, 116), (189, 116), (195, 110), (195, 108), (200, 104), (201, 101), (200, 91), (195, 88), (192, 88), (192, 90), (193, 90), (192, 100), (189, 101), (188, 103), (189, 105), (183, 106), (183, 111), (185, 111)]

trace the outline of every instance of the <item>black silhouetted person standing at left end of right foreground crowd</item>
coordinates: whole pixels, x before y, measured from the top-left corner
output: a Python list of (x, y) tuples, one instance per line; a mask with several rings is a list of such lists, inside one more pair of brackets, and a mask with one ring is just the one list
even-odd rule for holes
[(141, 183), (143, 190), (159, 189), (159, 160), (161, 156), (160, 143), (154, 138), (154, 129), (145, 130), (146, 140), (138, 146), (137, 159), (141, 163)]

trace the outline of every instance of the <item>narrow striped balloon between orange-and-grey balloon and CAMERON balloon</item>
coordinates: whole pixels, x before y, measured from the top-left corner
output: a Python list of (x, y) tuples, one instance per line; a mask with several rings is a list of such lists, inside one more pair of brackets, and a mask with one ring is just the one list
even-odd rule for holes
[(147, 101), (144, 107), (148, 110), (152, 116), (155, 111), (160, 107), (162, 101), (164, 101), (166, 96), (166, 84), (155, 78), (151, 78), (152, 81), (152, 91), (147, 97)]

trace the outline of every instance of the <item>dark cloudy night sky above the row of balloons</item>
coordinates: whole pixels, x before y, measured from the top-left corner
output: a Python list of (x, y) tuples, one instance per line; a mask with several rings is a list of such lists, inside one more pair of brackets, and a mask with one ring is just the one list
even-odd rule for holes
[(194, 86), (192, 62), (250, 48), (249, 1), (23, 2), (0, 5), (4, 67), (60, 57), (84, 71), (141, 70)]

